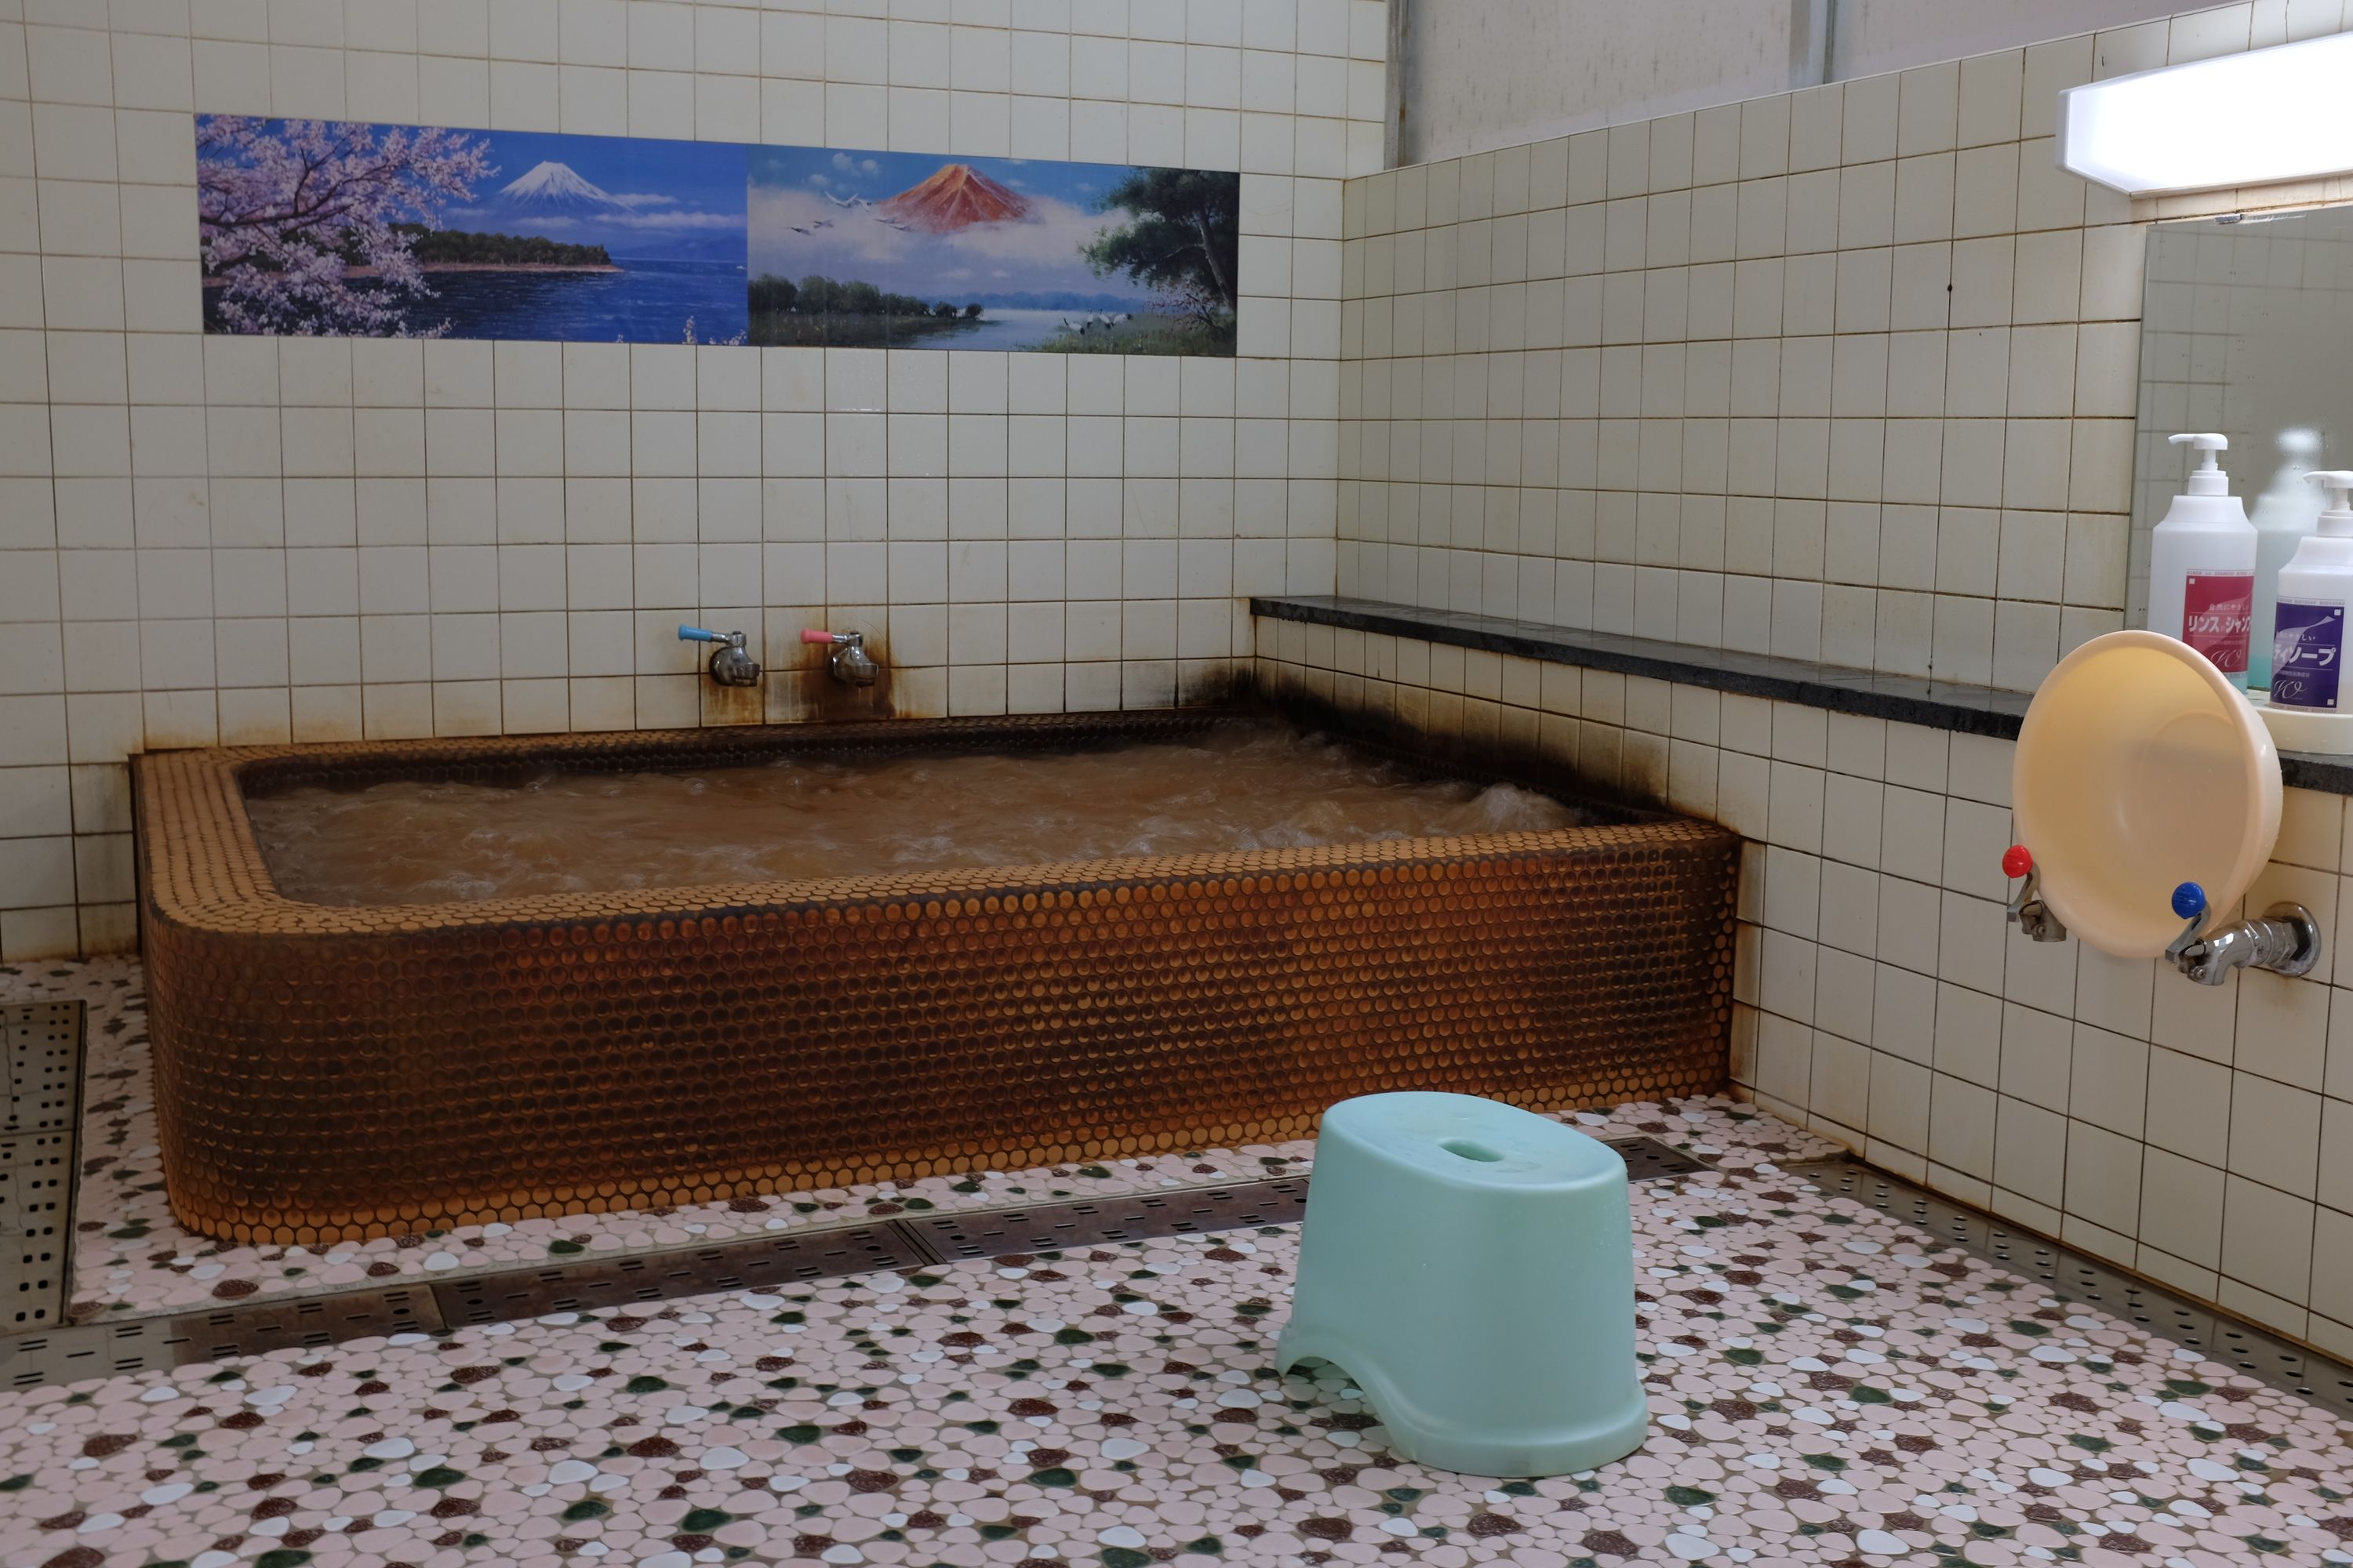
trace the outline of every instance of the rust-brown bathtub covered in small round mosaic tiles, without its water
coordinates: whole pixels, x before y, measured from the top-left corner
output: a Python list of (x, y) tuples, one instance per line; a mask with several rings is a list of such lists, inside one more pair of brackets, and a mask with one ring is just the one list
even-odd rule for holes
[[(781, 752), (1064, 750), (1221, 712), (158, 752), (139, 912), (172, 1211), (320, 1244), (1297, 1138), (1334, 1100), (1720, 1088), (1739, 839), (1346, 849), (329, 907), (247, 792)], [(1461, 759), (1426, 759), (1466, 771)], [(1482, 759), (1555, 795), (1537, 759)]]

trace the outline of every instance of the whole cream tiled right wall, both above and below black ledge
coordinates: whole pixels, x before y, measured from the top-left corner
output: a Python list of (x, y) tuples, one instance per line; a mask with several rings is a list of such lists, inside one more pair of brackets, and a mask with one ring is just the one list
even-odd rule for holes
[[(1341, 592), (2031, 689), (2122, 621), (2155, 216), (2052, 169), (2052, 99), (2344, 21), (2235, 5), (1351, 181)], [(2353, 964), (2202, 990), (2007, 933), (2007, 743), (1301, 623), (1259, 656), (1739, 827), (1760, 1103), (2353, 1354)], [(2289, 792), (2249, 903), (2334, 933), (2341, 816)]]

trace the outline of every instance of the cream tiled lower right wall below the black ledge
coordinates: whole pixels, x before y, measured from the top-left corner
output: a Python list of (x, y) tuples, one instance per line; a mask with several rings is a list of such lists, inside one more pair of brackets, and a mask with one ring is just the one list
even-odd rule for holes
[(1760, 1105), (2353, 1354), (2346, 797), (2287, 792), (2247, 898), (2311, 907), (2329, 957), (2207, 990), (2005, 924), (2007, 741), (1294, 621), (1259, 623), (1259, 668), (1737, 827), (1732, 1067)]

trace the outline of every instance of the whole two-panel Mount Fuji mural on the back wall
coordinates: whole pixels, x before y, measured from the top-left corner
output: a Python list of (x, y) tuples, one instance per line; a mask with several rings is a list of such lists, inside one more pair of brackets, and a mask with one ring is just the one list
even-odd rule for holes
[(1240, 176), (195, 115), (207, 331), (1233, 355)]

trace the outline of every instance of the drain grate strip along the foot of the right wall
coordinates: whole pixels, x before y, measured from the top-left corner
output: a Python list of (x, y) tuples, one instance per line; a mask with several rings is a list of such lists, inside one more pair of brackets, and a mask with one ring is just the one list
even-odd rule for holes
[(2007, 1220), (1958, 1204), (1854, 1159), (1805, 1159), (1781, 1166), (1824, 1192), (1925, 1229), (1946, 1246), (2000, 1265), (2045, 1286), (2064, 1302), (2099, 1307), (2108, 1316), (2139, 1324), (2160, 1340), (2184, 1345), (2257, 1382), (2297, 1394), (2353, 1420), (2353, 1366), (2257, 1328), (2205, 1302), (2127, 1274), (2099, 1258), (2059, 1246)]

